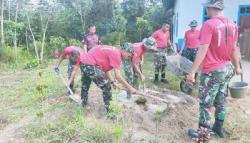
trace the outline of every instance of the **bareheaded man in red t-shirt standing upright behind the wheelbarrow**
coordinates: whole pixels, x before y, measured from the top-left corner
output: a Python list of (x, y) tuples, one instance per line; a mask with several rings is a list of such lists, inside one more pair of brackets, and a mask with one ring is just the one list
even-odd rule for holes
[(152, 37), (157, 43), (157, 52), (154, 57), (155, 64), (155, 83), (158, 83), (159, 74), (161, 74), (161, 82), (168, 83), (166, 79), (166, 54), (171, 46), (169, 24), (163, 24), (162, 28), (155, 31)]

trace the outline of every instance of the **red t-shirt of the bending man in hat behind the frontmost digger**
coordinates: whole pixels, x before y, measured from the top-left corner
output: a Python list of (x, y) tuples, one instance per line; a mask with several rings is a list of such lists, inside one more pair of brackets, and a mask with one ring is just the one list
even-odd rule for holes
[(133, 48), (135, 54), (132, 57), (132, 62), (137, 63), (141, 60), (142, 56), (146, 53), (147, 49), (143, 46), (143, 43), (134, 43)]

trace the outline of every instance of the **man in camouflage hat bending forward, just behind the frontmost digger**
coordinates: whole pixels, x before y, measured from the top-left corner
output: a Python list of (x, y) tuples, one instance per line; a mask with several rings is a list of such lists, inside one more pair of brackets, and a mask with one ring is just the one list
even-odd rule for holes
[[(123, 63), (123, 69), (125, 72), (126, 81), (133, 85), (134, 87), (138, 88), (138, 78), (141, 79), (141, 81), (145, 80), (144, 75), (142, 74), (142, 63), (143, 63), (143, 57), (144, 54), (151, 50), (156, 51), (156, 42), (153, 37), (145, 38), (140, 43), (125, 43), (122, 46), (122, 49), (129, 49), (133, 48), (135, 53), (130, 59), (124, 59), (122, 60)], [(131, 95), (127, 93), (127, 98), (130, 98)]]

